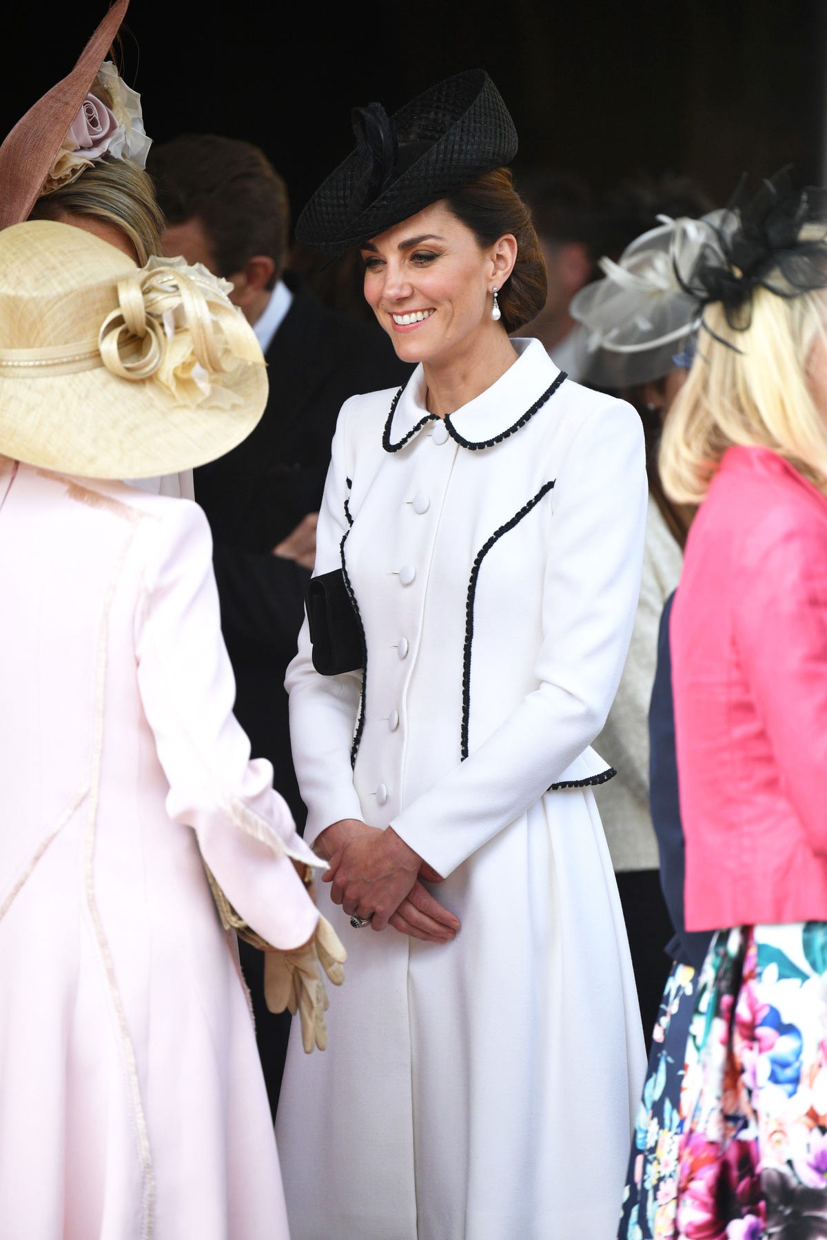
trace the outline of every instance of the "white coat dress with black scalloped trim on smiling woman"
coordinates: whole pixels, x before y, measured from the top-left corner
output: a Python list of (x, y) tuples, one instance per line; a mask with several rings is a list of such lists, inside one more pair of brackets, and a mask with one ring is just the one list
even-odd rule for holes
[(303, 629), (305, 838), (391, 823), (462, 928), (424, 944), (331, 905), (347, 986), (324, 1056), (294, 1029), (276, 1120), (294, 1240), (616, 1225), (645, 1059), (589, 745), (635, 618), (643, 440), (629, 405), (516, 347), (445, 420), (419, 367), (399, 399), (348, 401), (334, 439), (316, 573), (343, 563), (367, 665), (319, 676)]

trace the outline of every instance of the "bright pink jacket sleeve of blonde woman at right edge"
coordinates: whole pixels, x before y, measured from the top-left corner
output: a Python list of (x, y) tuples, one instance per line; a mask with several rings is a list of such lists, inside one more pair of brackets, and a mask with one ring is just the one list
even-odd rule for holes
[[(782, 786), (827, 853), (827, 542), (823, 521), (771, 508), (735, 585), (734, 642)], [(756, 773), (760, 776), (761, 773)]]

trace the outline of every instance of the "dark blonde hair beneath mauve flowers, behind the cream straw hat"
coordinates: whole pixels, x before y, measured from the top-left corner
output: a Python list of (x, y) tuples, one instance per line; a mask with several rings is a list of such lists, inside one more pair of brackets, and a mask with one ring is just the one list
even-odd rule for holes
[(120, 228), (135, 248), (139, 267), (161, 253), (164, 215), (153, 181), (128, 159), (103, 155), (77, 181), (38, 198), (29, 218), (60, 221), (66, 215), (93, 216)]

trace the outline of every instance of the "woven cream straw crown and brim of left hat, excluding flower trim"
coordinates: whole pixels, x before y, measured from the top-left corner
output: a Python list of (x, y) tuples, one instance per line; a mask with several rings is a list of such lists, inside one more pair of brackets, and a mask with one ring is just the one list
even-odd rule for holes
[[(176, 399), (153, 377), (120, 378), (94, 358), (89, 368), (62, 373), (15, 365), (26, 350), (40, 356), (56, 345), (94, 341), (119, 305), (119, 285), (140, 272), (71, 224), (30, 221), (0, 232), (0, 454), (86, 477), (151, 477), (223, 456), (253, 430), (268, 382), (241, 311), (237, 331), (258, 362), (238, 361), (219, 374), (221, 399), (212, 403)], [(236, 309), (227, 308), (234, 321)], [(26, 373), (27, 365), (35, 373)]]

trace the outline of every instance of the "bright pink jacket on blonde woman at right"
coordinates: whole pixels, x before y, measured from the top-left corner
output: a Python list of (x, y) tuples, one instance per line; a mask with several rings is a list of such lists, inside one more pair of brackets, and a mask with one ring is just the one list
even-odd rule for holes
[(827, 500), (730, 448), (671, 625), (689, 930), (827, 919)]

